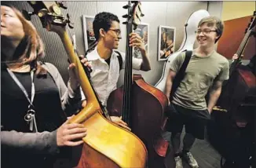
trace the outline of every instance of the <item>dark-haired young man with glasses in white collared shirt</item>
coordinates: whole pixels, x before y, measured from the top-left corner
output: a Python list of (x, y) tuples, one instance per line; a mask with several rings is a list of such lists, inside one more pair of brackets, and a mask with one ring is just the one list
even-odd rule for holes
[[(99, 100), (101, 100), (101, 103), (104, 106), (107, 105), (110, 93), (117, 87), (116, 84), (119, 79), (119, 71), (125, 68), (125, 53), (115, 52), (113, 50), (118, 49), (119, 40), (121, 39), (119, 22), (118, 16), (115, 16), (112, 13), (103, 12), (98, 13), (95, 16), (93, 20), (93, 31), (97, 40), (97, 46), (86, 56), (93, 70), (90, 73), (90, 80), (99, 96)], [(129, 38), (130, 46), (136, 46), (140, 49), (142, 56), (142, 59), (133, 57), (133, 68), (136, 70), (149, 71), (151, 68), (148, 60), (148, 53), (144, 49), (144, 43), (140, 35), (131, 33)], [(120, 66), (120, 64), (122, 64), (122, 66)], [(82, 99), (85, 98), (86, 97), (82, 97)], [(83, 102), (82, 106), (85, 106), (85, 104), (86, 101)], [(111, 119), (112, 122), (130, 130), (121, 118), (112, 116)]]

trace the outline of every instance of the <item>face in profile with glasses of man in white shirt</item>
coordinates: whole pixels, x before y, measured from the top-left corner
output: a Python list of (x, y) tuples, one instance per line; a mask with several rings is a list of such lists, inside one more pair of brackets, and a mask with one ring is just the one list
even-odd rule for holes
[(117, 21), (112, 21), (108, 31), (104, 31), (104, 44), (108, 49), (118, 49), (119, 39), (121, 38), (120, 25)]

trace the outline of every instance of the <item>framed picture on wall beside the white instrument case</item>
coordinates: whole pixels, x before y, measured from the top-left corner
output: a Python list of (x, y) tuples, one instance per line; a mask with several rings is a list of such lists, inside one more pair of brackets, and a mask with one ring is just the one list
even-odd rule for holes
[(174, 53), (175, 27), (159, 26), (158, 60), (166, 60)]

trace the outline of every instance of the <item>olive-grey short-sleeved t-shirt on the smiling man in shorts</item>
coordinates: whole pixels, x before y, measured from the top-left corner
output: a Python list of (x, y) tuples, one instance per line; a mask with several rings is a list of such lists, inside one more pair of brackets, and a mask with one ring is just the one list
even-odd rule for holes
[[(192, 52), (191, 60), (185, 71), (185, 77), (174, 93), (172, 103), (192, 110), (206, 110), (205, 97), (214, 80), (229, 79), (229, 61), (216, 51), (207, 57), (196, 56)], [(185, 52), (179, 54), (170, 64), (172, 71), (179, 71)]]

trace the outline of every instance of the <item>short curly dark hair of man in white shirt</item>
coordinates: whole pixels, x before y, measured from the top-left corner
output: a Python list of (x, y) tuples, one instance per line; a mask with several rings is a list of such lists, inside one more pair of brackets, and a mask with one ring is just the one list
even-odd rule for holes
[(112, 25), (112, 21), (117, 21), (120, 23), (120, 20), (118, 16), (114, 15), (113, 13), (98, 13), (94, 20), (93, 20), (93, 31), (96, 40), (98, 40), (100, 37), (100, 29), (103, 28), (104, 31), (108, 31), (109, 28)]

